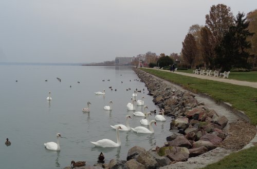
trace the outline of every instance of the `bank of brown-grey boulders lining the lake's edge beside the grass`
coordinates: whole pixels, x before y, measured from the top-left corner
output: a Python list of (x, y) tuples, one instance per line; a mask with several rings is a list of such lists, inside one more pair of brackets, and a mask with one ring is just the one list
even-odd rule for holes
[(174, 117), (170, 122), (170, 129), (167, 129), (173, 134), (166, 138), (167, 142), (163, 146), (153, 150), (132, 147), (126, 160), (112, 159), (108, 164), (97, 163), (94, 166), (76, 168), (173, 168), (170, 164), (181, 164), (183, 161), (190, 163), (192, 160), (189, 158), (197, 158), (207, 152), (212, 157), (218, 155), (218, 152), (224, 155), (232, 152), (220, 147), (229, 135), (229, 120), (226, 116), (209, 109), (204, 101), (198, 102), (189, 91), (178, 90), (140, 69), (135, 68), (134, 71), (153, 96), (153, 102), (160, 109), (164, 109), (165, 115)]

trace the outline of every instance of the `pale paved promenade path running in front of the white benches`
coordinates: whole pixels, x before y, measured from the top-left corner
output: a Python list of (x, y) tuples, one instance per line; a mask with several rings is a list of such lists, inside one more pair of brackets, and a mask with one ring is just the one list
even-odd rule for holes
[[(158, 70), (171, 72), (169, 70), (162, 70), (162, 69), (158, 69)], [(171, 72), (171, 73), (173, 73), (173, 72)], [(229, 78), (220, 78), (220, 77), (213, 77), (213, 76), (206, 76), (206, 75), (203, 76), (203, 75), (197, 75), (197, 74), (193, 74), (193, 73), (183, 73), (183, 72), (177, 72), (177, 71), (175, 71), (174, 73), (184, 75), (184, 76), (197, 77), (200, 79), (208, 79), (208, 80), (214, 80), (214, 81), (219, 81), (219, 82), (232, 83), (234, 85), (257, 88), (257, 82), (241, 81), (241, 80), (234, 80), (234, 79), (229, 79)]]

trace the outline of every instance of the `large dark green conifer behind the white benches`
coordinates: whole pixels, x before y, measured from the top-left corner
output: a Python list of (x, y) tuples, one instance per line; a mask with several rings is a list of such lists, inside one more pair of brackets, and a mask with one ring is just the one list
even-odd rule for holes
[(221, 71), (229, 71), (232, 66), (235, 68), (248, 68), (247, 59), (250, 54), (247, 49), (251, 43), (247, 41), (248, 36), (252, 36), (247, 29), (249, 22), (246, 22), (244, 13), (238, 12), (236, 15), (235, 26), (229, 28), (221, 43), (215, 48), (217, 57), (216, 64)]

